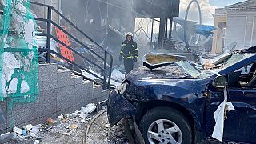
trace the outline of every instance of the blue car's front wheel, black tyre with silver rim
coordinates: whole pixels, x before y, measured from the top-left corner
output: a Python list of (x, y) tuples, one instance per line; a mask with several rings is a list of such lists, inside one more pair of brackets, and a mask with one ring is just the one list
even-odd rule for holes
[[(164, 129), (161, 129), (162, 126)], [(192, 143), (192, 130), (186, 117), (168, 107), (157, 107), (146, 112), (139, 123), (139, 129), (146, 144)]]

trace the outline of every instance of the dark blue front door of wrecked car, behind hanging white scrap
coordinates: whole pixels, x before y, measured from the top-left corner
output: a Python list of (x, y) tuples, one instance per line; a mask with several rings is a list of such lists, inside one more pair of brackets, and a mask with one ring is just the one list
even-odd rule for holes
[[(206, 102), (206, 137), (209, 137), (214, 130), (214, 111), (223, 101), (224, 92), (223, 89), (210, 87), (209, 95)], [(256, 123), (256, 89), (238, 87), (232, 82), (232, 85), (228, 86), (227, 96), (228, 101), (232, 102), (235, 110), (227, 112), (223, 140), (256, 142), (256, 126), (254, 126)]]

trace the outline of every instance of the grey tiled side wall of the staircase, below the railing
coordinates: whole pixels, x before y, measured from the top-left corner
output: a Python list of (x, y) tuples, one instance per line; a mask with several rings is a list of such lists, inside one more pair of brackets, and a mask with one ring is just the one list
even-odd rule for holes
[(83, 80), (70, 70), (58, 69), (57, 64), (40, 64), (38, 69), (37, 102), (14, 104), (13, 124), (10, 123), (11, 110), (8, 103), (0, 102), (0, 108), (6, 118), (6, 123), (0, 123), (0, 134), (5, 133), (10, 126), (22, 127), (26, 124), (45, 123), (47, 118), (70, 114), (88, 103), (98, 103), (108, 98), (109, 90), (102, 90), (102, 86)]

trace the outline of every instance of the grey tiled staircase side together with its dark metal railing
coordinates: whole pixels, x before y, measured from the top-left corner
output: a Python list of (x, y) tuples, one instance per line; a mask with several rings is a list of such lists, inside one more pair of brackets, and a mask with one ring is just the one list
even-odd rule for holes
[[(31, 2), (31, 4), (42, 6), (42, 8), (46, 8), (48, 12), (46, 19), (35, 18), (36, 21), (47, 23), (46, 33), (37, 34), (38, 36), (47, 38), (46, 47), (38, 48), (39, 53), (46, 54), (45, 62), (38, 65), (39, 95), (36, 102), (26, 104), (14, 103), (13, 106), (10, 106), (8, 101), (0, 102), (0, 109), (3, 111), (4, 117), (6, 118), (6, 123), (0, 122), (0, 134), (5, 133), (6, 130), (10, 130), (11, 126), (22, 127), (26, 124), (35, 125), (46, 122), (47, 118), (56, 118), (60, 114), (70, 114), (75, 110), (79, 110), (82, 106), (86, 106), (88, 103), (99, 103), (106, 100), (109, 94), (108, 89), (110, 88), (110, 76), (113, 63), (112, 55), (103, 49), (102, 46), (99, 46), (97, 42), (94, 42), (88, 35), (83, 33), (82, 30), (78, 29), (77, 26), (65, 18), (58, 10), (55, 10), (54, 7), (38, 2)], [(66, 20), (66, 22), (70, 23), (70, 25), (78, 30), (87, 40), (94, 43), (98, 50), (102, 50), (102, 54), (104, 55), (101, 56), (98, 52), (94, 52), (94, 50), (86, 46), (84, 42), (79, 41), (78, 38), (75, 38), (72, 34), (53, 22), (51, 19), (52, 12), (58, 14), (62, 19)], [(92, 62), (71, 46), (66, 46), (64, 42), (60, 41), (52, 34), (52, 26), (62, 30), (63, 33), (72, 38), (75, 42), (85, 47), (86, 50), (89, 50), (90, 54), (93, 54), (95, 58), (102, 61), (102, 65), (100, 66), (96, 62)], [(51, 50), (50, 42), (52, 40), (65, 46), (66, 49), (72, 51), (73, 54), (78, 55), (84, 61), (90, 63), (90, 66), (94, 66), (95, 69), (98, 68), (103, 78), (99, 77), (97, 74), (91, 73), (90, 70), (87, 70), (85, 66), (78, 64), (78, 62), (73, 62), (62, 54)], [(50, 59), (50, 54), (55, 54), (59, 59), (62, 59), (64, 63)], [(51, 62), (56, 62), (67, 67), (76, 67), (78, 70), (85, 70), (87, 73), (98, 78), (96, 82), (98, 85), (95, 85), (94, 80), (89, 81), (88, 79), (90, 78), (86, 78), (86, 76), (82, 74), (78, 76), (77, 72), (60, 68), (58, 64)], [(10, 107), (12, 107), (12, 110), (10, 110)]]

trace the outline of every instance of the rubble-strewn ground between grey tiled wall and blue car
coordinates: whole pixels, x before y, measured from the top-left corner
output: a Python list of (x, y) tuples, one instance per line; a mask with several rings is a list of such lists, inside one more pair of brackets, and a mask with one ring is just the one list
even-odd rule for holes
[[(103, 109), (106, 109), (106, 107), (103, 106)], [(2, 134), (0, 136), (0, 143), (82, 143), (83, 138), (85, 137), (86, 126), (94, 117), (94, 114), (97, 113), (95, 110), (95, 104), (90, 103), (85, 107), (81, 107), (81, 110), (74, 111), (74, 113), (60, 114), (56, 119), (48, 118), (44, 124), (35, 126), (31, 124), (20, 127), (15, 126), (13, 132)], [(103, 139), (107, 139), (110, 143), (127, 143), (127, 138), (123, 132), (123, 126), (118, 124), (118, 126), (110, 128), (110, 125), (107, 122), (106, 113), (103, 114), (101, 118), (97, 118), (94, 123), (97, 125), (96, 127), (92, 126), (90, 135), (94, 135), (94, 138), (98, 139), (99, 143), (104, 142), (105, 140)], [(100, 127), (97, 127), (98, 125)], [(106, 138), (98, 138), (102, 137), (98, 132), (104, 131), (105, 133), (100, 135), (104, 135)], [(120, 139), (115, 140), (117, 139), (115, 137)]]

